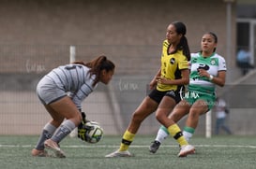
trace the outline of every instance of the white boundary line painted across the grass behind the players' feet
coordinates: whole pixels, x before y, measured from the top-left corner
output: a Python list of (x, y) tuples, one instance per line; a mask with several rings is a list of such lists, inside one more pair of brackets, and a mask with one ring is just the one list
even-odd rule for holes
[[(193, 145), (195, 148), (256, 148), (256, 146), (250, 145)], [(0, 145), (0, 148), (33, 148), (32, 145)], [(109, 146), (109, 145), (71, 145), (71, 146), (61, 146), (62, 148), (119, 148), (119, 146)], [(148, 148), (148, 146), (133, 145), (130, 148)], [(162, 145), (161, 148), (177, 148), (176, 145)]]

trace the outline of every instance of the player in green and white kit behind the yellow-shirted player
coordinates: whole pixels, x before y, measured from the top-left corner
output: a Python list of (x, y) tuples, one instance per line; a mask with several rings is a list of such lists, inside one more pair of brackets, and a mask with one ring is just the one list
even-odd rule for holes
[[(183, 130), (183, 135), (187, 141), (194, 134), (199, 117), (214, 106), (216, 85), (223, 87), (225, 84), (227, 68), (225, 59), (215, 52), (217, 43), (217, 35), (211, 32), (206, 33), (201, 41), (202, 50), (198, 53), (191, 53), (188, 92), (169, 116), (171, 120), (177, 122), (188, 115)], [(155, 141), (149, 147), (149, 151), (156, 153), (168, 135), (168, 130), (161, 126)]]

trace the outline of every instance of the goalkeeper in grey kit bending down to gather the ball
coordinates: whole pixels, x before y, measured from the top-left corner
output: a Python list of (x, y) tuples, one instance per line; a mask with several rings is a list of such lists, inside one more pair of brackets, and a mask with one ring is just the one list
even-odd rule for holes
[[(95, 90), (98, 82), (108, 84), (113, 77), (114, 63), (106, 56), (83, 63), (74, 62), (54, 68), (38, 82), (38, 98), (53, 120), (50, 120), (39, 136), (32, 156), (49, 157), (45, 150), (53, 150), (54, 156), (65, 158), (59, 143), (76, 127), (79, 137), (85, 139), (85, 115), (81, 103)], [(86, 140), (85, 140), (86, 141)]]

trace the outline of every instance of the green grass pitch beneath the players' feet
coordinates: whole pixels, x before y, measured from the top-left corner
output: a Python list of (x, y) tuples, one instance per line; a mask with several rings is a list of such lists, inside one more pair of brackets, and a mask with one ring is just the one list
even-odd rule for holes
[(38, 136), (0, 136), (0, 168), (3, 169), (247, 169), (256, 168), (256, 136), (194, 136), (190, 144), (196, 154), (177, 158), (178, 147), (168, 138), (156, 154), (148, 151), (154, 135), (136, 135), (129, 151), (135, 157), (105, 158), (118, 148), (121, 136), (104, 136), (98, 144), (78, 138), (61, 143), (67, 158), (35, 158), (30, 155)]

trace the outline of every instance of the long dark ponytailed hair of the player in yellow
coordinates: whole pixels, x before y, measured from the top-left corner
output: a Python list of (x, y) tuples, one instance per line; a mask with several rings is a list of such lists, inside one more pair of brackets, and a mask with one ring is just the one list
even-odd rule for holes
[(186, 25), (183, 22), (180, 21), (174, 21), (173, 26), (176, 28), (176, 32), (178, 35), (182, 35), (179, 44), (177, 45), (177, 48), (174, 52), (176, 52), (178, 49), (182, 49), (183, 54), (187, 57), (188, 61), (190, 61), (190, 49), (188, 47), (188, 39), (185, 36), (187, 33)]

